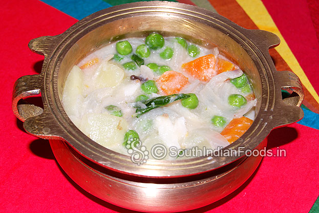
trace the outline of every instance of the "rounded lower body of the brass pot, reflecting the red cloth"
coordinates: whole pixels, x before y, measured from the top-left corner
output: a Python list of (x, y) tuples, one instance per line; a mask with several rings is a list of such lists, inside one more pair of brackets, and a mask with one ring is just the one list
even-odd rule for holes
[[(76, 154), (62, 140), (49, 141), (61, 168), (84, 190), (111, 204), (144, 212), (186, 211), (214, 203), (237, 190), (262, 160), (261, 156), (246, 157), (235, 165), (226, 165), (214, 174), (164, 180), (133, 176), (130, 179), (130, 175), (123, 176), (114, 171), (90, 167), (89, 164), (96, 164)], [(259, 149), (266, 145), (267, 138)]]

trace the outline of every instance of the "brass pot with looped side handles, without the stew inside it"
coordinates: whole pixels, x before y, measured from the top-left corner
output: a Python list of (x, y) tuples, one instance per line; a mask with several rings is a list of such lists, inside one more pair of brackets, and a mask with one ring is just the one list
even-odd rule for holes
[[(71, 122), (60, 97), (73, 65), (102, 45), (154, 31), (208, 47), (217, 45), (246, 72), (258, 99), (256, 119), (242, 137), (224, 148), (243, 147), (243, 153), (137, 165), (130, 156), (95, 143)], [(262, 159), (244, 152), (264, 149), (273, 128), (302, 119), (299, 106), (304, 94), (299, 78), (288, 71), (277, 72), (268, 52), (279, 43), (272, 33), (244, 29), (195, 6), (168, 2), (115, 6), (83, 18), (65, 33), (31, 40), (29, 48), (45, 56), (42, 72), (16, 81), (12, 108), (28, 133), (50, 140), (61, 168), (92, 195), (138, 211), (190, 210), (235, 191)], [(285, 100), (282, 88), (293, 91)], [(43, 110), (19, 101), (40, 92)]]

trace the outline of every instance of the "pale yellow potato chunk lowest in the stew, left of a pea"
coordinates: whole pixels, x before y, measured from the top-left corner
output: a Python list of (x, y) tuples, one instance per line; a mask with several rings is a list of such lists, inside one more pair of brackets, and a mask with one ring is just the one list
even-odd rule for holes
[(88, 113), (82, 117), (79, 129), (98, 144), (110, 148), (122, 146), (127, 122), (110, 114)]

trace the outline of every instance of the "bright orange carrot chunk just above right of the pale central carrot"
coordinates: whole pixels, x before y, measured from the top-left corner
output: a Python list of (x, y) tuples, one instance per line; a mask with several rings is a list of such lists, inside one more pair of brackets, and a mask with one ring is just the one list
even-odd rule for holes
[(209, 81), (218, 73), (215, 69), (216, 58), (212, 54), (199, 57), (182, 65), (183, 70), (201, 81)]

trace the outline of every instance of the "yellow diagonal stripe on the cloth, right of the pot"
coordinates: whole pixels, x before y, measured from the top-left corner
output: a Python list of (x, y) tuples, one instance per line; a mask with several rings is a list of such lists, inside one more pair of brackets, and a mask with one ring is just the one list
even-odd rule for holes
[(278, 30), (271, 16), (269, 15), (266, 7), (261, 0), (236, 0), (237, 3), (243, 8), (250, 19), (255, 23), (255, 25), (260, 30), (266, 30), (272, 32), (279, 36), (281, 43), (275, 49), (281, 55), (281, 57), (286, 61), (288, 66), (293, 70), (293, 72), (300, 78), (303, 85), (308, 89), (310, 94), (319, 103), (319, 96), (311, 85), (308, 77), (306, 76), (304, 70), (300, 66), (297, 59), (291, 52), (287, 42)]

